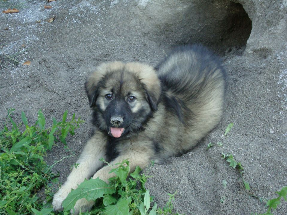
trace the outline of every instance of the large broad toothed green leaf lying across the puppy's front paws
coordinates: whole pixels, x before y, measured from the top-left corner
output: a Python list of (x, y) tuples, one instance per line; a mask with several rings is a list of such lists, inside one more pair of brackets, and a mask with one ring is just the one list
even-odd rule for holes
[(89, 180), (85, 179), (85, 181), (83, 181), (77, 189), (72, 190), (63, 201), (64, 211), (71, 210), (78, 199), (86, 198), (88, 201), (95, 200), (103, 197), (104, 194), (112, 193), (115, 193), (115, 189), (110, 187), (110, 185), (103, 180), (99, 178)]

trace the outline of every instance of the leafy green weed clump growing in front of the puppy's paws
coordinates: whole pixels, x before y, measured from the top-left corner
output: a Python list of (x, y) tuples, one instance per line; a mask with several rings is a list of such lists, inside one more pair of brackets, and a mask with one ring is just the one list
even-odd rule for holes
[[(63, 201), (64, 211), (71, 210), (78, 199), (86, 198), (96, 201), (94, 209), (89, 214), (178, 214), (172, 212), (172, 200), (176, 193), (168, 194), (170, 198), (163, 209), (157, 208), (154, 197), (150, 196), (149, 191), (145, 189), (145, 182), (150, 176), (145, 176), (143, 173), (139, 175), (141, 169), (137, 166), (128, 177), (130, 171), (128, 160), (115, 166), (116, 168), (113, 168), (110, 173), (115, 173), (116, 176), (109, 179), (109, 184), (99, 178), (89, 179), (82, 182), (77, 189), (72, 190)], [(152, 208), (151, 203), (153, 203)]]

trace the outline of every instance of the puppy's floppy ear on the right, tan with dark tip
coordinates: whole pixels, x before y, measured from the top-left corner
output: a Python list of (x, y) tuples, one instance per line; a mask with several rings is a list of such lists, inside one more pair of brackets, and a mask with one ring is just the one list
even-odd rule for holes
[(136, 74), (139, 81), (145, 88), (146, 99), (151, 110), (157, 110), (157, 105), (161, 95), (161, 85), (154, 68), (141, 63), (127, 63), (125, 68)]

